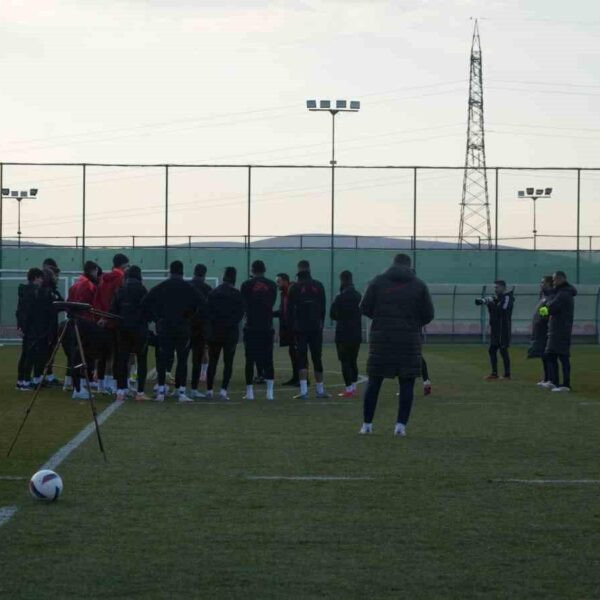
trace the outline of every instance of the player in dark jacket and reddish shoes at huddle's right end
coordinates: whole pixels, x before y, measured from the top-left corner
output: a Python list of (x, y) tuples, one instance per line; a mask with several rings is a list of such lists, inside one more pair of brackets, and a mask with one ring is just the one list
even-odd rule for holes
[(329, 316), (336, 321), (335, 345), (338, 359), (342, 363), (342, 377), (346, 390), (340, 397), (354, 398), (358, 382), (358, 352), (362, 342), (362, 314), (360, 292), (352, 282), (352, 273), (340, 273), (340, 293), (335, 297)]

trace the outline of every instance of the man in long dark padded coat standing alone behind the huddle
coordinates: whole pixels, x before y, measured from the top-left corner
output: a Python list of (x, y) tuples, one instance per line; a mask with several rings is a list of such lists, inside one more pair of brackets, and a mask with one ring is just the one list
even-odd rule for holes
[(421, 328), (434, 316), (429, 290), (410, 264), (409, 256), (398, 254), (394, 264), (371, 282), (361, 303), (362, 313), (373, 320), (361, 434), (373, 431), (373, 416), (383, 380), (397, 377), (400, 401), (394, 435), (406, 435), (415, 379), (421, 375)]

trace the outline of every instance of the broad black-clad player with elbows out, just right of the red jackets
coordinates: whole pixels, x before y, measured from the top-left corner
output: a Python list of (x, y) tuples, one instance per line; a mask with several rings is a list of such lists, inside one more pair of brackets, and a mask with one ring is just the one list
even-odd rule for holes
[(183, 279), (183, 263), (173, 261), (169, 268), (170, 277), (153, 287), (142, 301), (142, 308), (148, 320), (156, 323), (159, 346), (158, 393), (156, 401), (165, 399), (167, 367), (177, 355), (175, 387), (180, 402), (190, 402), (185, 393), (187, 380), (187, 359), (190, 349), (190, 322), (197, 312), (206, 310), (204, 299)]

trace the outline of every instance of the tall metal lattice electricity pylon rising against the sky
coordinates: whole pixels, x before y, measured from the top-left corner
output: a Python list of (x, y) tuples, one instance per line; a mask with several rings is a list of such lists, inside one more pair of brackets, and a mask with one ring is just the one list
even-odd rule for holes
[(467, 155), (463, 178), (458, 247), (492, 246), (492, 226), (485, 169), (485, 135), (483, 126), (483, 77), (481, 42), (477, 20), (471, 44), (469, 78), (469, 122)]

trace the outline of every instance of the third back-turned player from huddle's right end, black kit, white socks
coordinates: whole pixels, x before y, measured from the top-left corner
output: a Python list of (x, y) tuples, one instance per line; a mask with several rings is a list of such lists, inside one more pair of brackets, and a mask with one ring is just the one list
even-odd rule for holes
[(254, 364), (267, 383), (267, 400), (273, 400), (273, 306), (277, 300), (277, 286), (265, 277), (262, 260), (252, 263), (252, 277), (241, 288), (246, 325), (244, 348), (246, 350), (246, 400), (254, 400)]

